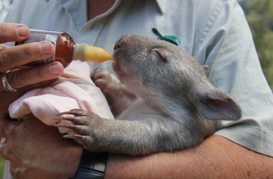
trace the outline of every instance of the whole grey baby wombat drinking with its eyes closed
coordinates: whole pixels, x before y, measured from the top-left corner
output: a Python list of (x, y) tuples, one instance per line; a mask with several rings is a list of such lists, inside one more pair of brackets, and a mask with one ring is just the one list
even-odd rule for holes
[[(147, 155), (188, 149), (216, 130), (217, 120), (235, 121), (242, 110), (227, 93), (208, 81), (198, 62), (179, 47), (138, 35), (121, 36), (114, 47), (113, 69), (91, 77), (107, 98), (116, 120), (72, 110), (55, 117), (90, 151)], [(58, 114), (58, 115), (61, 115)]]

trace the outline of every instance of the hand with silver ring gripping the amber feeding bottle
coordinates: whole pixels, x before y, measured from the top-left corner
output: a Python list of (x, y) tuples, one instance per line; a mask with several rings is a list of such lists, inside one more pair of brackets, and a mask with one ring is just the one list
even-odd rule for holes
[[(5, 71), (28, 62), (44, 59), (55, 53), (54, 46), (47, 41), (7, 47), (6, 42), (22, 41), (29, 37), (30, 31), (23, 24), (0, 23), (0, 79)], [(19, 69), (6, 75), (10, 86), (17, 88), (16, 92), (6, 91), (0, 84), (0, 117), (8, 114), (8, 106), (11, 102), (31, 89), (44, 87), (56, 80), (64, 72), (60, 62), (32, 68)]]

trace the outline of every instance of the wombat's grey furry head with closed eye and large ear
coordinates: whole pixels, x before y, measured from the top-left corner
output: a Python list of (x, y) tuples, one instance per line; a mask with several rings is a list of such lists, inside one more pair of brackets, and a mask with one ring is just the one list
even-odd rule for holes
[(160, 98), (196, 109), (207, 119), (238, 120), (242, 116), (235, 100), (216, 89), (199, 63), (174, 44), (124, 35), (117, 39), (113, 56), (113, 69), (127, 86), (154, 91)]

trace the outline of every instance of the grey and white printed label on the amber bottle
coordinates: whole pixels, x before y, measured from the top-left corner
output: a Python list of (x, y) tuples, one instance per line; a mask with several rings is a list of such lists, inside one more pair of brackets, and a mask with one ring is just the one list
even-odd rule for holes
[[(32, 42), (41, 42), (41, 41), (45, 40), (45, 41), (49, 41), (50, 43), (52, 43), (55, 47), (55, 50), (56, 50), (57, 38), (58, 38), (58, 35), (54, 35), (54, 34), (30, 33), (29, 38), (27, 40), (17, 42), (15, 45), (28, 44), (28, 43), (32, 43)], [(51, 63), (53, 61), (55, 61), (55, 53), (51, 57), (48, 57), (48, 58), (45, 58), (42, 60), (32, 61), (32, 62), (29, 62), (29, 63), (22, 65), (22, 66), (44, 65), (47, 63)]]

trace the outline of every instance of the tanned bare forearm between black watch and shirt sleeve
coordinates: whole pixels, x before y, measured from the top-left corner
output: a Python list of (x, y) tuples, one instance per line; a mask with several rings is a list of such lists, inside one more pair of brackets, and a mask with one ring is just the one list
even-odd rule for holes
[(143, 157), (109, 155), (105, 178), (221, 178), (272, 176), (273, 158), (212, 135), (194, 149)]

